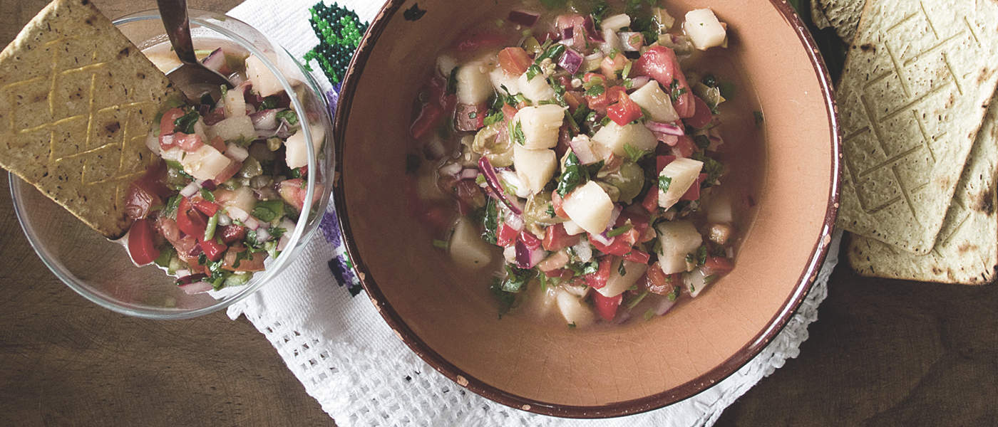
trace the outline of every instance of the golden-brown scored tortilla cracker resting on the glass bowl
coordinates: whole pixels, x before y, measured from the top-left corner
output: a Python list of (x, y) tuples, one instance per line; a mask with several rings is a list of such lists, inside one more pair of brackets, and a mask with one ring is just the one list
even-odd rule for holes
[(56, 0), (0, 53), (0, 165), (110, 239), (153, 159), (164, 100), (156, 69), (89, 0)]

